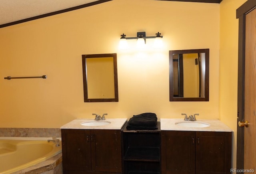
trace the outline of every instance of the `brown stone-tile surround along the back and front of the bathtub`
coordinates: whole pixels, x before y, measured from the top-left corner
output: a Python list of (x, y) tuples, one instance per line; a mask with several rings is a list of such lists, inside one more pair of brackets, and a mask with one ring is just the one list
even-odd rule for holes
[[(46, 137), (46, 138), (45, 138)], [(52, 139), (61, 137), (59, 128), (0, 128), (0, 139)], [(62, 153), (13, 174), (62, 174)]]

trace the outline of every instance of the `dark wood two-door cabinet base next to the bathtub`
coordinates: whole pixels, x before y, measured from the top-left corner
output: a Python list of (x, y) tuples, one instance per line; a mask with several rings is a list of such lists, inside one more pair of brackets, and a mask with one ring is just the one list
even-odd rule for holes
[(62, 129), (64, 174), (122, 172), (121, 130)]

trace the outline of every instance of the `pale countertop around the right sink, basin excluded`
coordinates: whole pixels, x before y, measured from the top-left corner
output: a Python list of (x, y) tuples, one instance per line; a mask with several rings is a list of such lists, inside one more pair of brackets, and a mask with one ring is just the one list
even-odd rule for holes
[[(175, 123), (204, 123), (210, 125), (209, 127), (183, 127), (176, 125)], [(222, 123), (218, 119), (214, 120), (202, 120), (197, 121), (184, 121), (184, 119), (160, 119), (161, 130), (182, 130), (182, 131), (213, 131), (213, 132), (233, 132), (227, 125)]]

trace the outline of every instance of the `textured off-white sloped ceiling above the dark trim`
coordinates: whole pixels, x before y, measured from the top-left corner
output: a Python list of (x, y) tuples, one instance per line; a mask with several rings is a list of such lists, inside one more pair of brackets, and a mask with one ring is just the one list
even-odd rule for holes
[(0, 0), (0, 25), (98, 0)]

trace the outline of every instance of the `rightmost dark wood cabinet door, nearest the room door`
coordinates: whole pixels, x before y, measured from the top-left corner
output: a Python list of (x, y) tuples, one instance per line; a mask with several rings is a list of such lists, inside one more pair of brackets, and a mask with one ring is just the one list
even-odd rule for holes
[(196, 173), (230, 174), (232, 132), (196, 132)]

